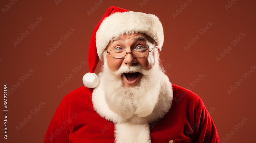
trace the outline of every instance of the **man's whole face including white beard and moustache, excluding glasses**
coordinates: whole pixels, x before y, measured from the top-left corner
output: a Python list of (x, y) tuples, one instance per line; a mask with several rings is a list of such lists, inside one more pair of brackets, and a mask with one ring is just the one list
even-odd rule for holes
[[(134, 57), (127, 53), (123, 58), (113, 58), (106, 51), (103, 55), (103, 70), (98, 76), (106, 103), (110, 110), (125, 119), (153, 114), (159, 96), (165, 93), (163, 84), (166, 79), (163, 78), (165, 76), (159, 63), (159, 55), (157, 49), (153, 49), (154, 44), (147, 39), (149, 38), (141, 33), (121, 35), (112, 39), (106, 51), (122, 49), (132, 52), (143, 47), (152, 50), (148, 56)], [(135, 74), (126, 74), (130, 72)]]

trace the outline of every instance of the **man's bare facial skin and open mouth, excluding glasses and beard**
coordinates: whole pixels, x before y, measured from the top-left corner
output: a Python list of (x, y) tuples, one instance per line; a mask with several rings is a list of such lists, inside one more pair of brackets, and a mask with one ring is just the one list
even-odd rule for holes
[[(146, 36), (141, 33), (135, 33), (132, 35), (121, 35), (118, 38), (111, 41), (110, 44), (106, 47), (106, 50), (109, 52), (114, 49), (122, 49), (126, 52), (132, 52), (134, 49), (145, 48), (148, 49), (146, 42)], [(151, 48), (151, 47), (150, 47)], [(149, 49), (150, 50), (150, 49)], [(148, 55), (149, 56), (149, 55)], [(149, 62), (148, 56), (145, 57), (134, 57), (131, 53), (127, 53), (123, 58), (113, 58), (110, 54), (106, 55), (107, 64), (110, 70), (117, 71), (120, 66), (133, 66), (141, 65), (145, 70), (148, 70)], [(137, 85), (141, 78), (141, 73), (130, 73), (122, 74), (121, 78), (123, 79), (124, 86), (135, 86)]]

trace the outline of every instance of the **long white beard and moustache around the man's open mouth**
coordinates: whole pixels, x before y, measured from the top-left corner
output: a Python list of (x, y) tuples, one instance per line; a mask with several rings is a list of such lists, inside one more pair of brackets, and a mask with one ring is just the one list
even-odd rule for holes
[[(136, 86), (125, 87), (122, 73), (129, 71), (142, 74), (141, 81)], [(116, 72), (111, 71), (107, 65), (99, 74), (104, 84), (106, 103), (110, 110), (125, 119), (149, 116), (159, 99), (163, 81), (159, 80), (163, 72), (155, 64), (150, 70), (145, 70), (141, 65), (121, 66)], [(110, 81), (111, 80), (111, 81)]]

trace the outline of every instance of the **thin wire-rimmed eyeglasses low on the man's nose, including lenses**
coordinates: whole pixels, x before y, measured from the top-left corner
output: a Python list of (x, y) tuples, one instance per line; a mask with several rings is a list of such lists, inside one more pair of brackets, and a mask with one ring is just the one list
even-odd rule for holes
[(107, 53), (109, 53), (109, 55), (113, 58), (123, 58), (126, 56), (126, 54), (132, 54), (134, 57), (145, 57), (151, 51), (149, 51), (148, 49), (134, 49), (132, 50), (132, 52), (126, 52), (125, 50), (114, 49), (110, 50), (109, 52), (107, 51)]

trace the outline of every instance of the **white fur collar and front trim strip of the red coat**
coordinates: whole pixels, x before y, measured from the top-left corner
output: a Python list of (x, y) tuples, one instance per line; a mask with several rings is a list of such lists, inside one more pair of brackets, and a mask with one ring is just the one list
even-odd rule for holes
[(164, 88), (161, 89), (159, 100), (153, 111), (155, 114), (143, 118), (135, 117), (129, 120), (122, 118), (109, 109), (108, 104), (105, 101), (103, 83), (101, 80), (99, 85), (94, 88), (92, 93), (93, 108), (102, 118), (112, 121), (115, 124), (116, 143), (151, 142), (149, 123), (164, 117), (170, 110), (173, 100), (172, 84), (170, 83), (168, 76), (163, 75), (158, 78), (158, 80), (164, 82)]

